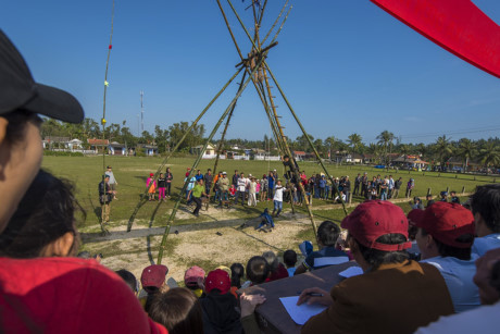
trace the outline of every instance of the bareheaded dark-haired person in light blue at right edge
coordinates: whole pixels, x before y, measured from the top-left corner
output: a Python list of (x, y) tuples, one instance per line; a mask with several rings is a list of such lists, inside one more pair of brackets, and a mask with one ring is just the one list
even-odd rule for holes
[(500, 248), (500, 184), (478, 186), (471, 198), (477, 235), (472, 251), (482, 257)]

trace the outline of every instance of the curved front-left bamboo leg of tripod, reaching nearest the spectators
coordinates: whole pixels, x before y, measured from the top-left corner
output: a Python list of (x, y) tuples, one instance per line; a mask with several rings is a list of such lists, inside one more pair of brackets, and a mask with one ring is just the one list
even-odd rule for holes
[(161, 264), (162, 262), (162, 258), (163, 258), (163, 251), (165, 250), (165, 246), (166, 246), (166, 238), (168, 236), (168, 233), (170, 233), (170, 230), (171, 230), (171, 226), (172, 226), (172, 222), (174, 221), (174, 218), (175, 218), (175, 214), (177, 212), (177, 209), (180, 205), (180, 199), (182, 199), (182, 196), (183, 194), (186, 191), (186, 188), (187, 188), (187, 185), (189, 183), (189, 178), (191, 176), (191, 173), (192, 171), (198, 166), (200, 160), (201, 160), (201, 157), (203, 156), (204, 151), (207, 150), (207, 146), (209, 145), (209, 143), (212, 140), (213, 136), (215, 135), (215, 133), (217, 132), (218, 127), (221, 126), (222, 122), (224, 121), (224, 119), (228, 115), (229, 111), (232, 110), (233, 106), (236, 104), (236, 101), (239, 99), (239, 97), (241, 96), (241, 94), (243, 92), (245, 88), (247, 87), (247, 85), (250, 83), (250, 81), (252, 79), (252, 76), (253, 74), (255, 73), (255, 71), (259, 69), (259, 66), (262, 64), (263, 62), (263, 59), (261, 59), (259, 61), (259, 64), (253, 69), (253, 71), (250, 73), (250, 76), (245, 81), (243, 85), (239, 87), (238, 91), (236, 92), (236, 96), (234, 97), (233, 101), (229, 103), (229, 106), (226, 108), (226, 110), (224, 111), (223, 115), (218, 119), (218, 122), (215, 124), (214, 128), (212, 129), (212, 133), (210, 134), (209, 138), (207, 139), (205, 144), (203, 145), (203, 148), (201, 149), (200, 151), (200, 154), (198, 156), (197, 160), (195, 161), (195, 163), (192, 164), (192, 168), (191, 168), (191, 171), (189, 172), (189, 175), (186, 177), (186, 182), (184, 183), (184, 186), (183, 186), (183, 189), (180, 190), (180, 194), (179, 194), (179, 198), (177, 199), (177, 201), (175, 202), (174, 205), (174, 208), (172, 209), (172, 213), (168, 218), (168, 221), (166, 223), (166, 227), (165, 227), (165, 232), (163, 234), (163, 237), (162, 237), (162, 243), (160, 245), (160, 251), (158, 253), (158, 264)]

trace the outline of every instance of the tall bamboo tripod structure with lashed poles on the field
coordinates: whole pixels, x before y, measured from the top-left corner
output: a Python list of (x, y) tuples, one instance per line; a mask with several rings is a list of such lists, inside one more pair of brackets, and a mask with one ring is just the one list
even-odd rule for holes
[[(171, 213), (171, 215), (168, 218), (168, 221), (166, 223), (165, 232), (163, 234), (162, 242), (161, 242), (160, 249), (159, 249), (158, 261), (157, 261), (158, 264), (161, 264), (161, 262), (162, 262), (163, 251), (166, 248), (166, 239), (167, 239), (167, 236), (170, 234), (171, 226), (172, 226), (172, 224), (174, 222), (176, 212), (177, 212), (178, 207), (180, 205), (180, 200), (183, 198), (183, 195), (186, 191), (186, 188), (187, 188), (187, 186), (189, 184), (191, 175), (192, 175), (193, 171), (197, 169), (198, 164), (200, 163), (201, 158), (202, 158), (203, 153), (205, 152), (209, 143), (213, 139), (214, 135), (216, 134), (218, 127), (224, 122), (224, 120), (226, 120), (224, 131), (223, 131), (223, 134), (222, 134), (222, 138), (221, 138), (221, 141), (218, 144), (217, 156), (216, 156), (215, 163), (214, 163), (213, 174), (216, 175), (216, 168), (217, 168), (217, 164), (218, 164), (218, 157), (220, 157), (218, 154), (220, 154), (220, 151), (222, 149), (222, 146), (223, 146), (223, 143), (224, 143), (224, 139), (225, 139), (225, 135), (226, 135), (227, 128), (228, 128), (229, 123), (230, 123), (230, 119), (232, 119), (234, 110), (236, 108), (236, 103), (237, 103), (239, 97), (241, 96), (241, 94), (243, 92), (243, 90), (246, 89), (246, 87), (248, 86), (248, 84), (250, 82), (252, 82), (252, 84), (253, 84), (253, 86), (255, 88), (255, 91), (258, 92), (259, 98), (261, 99), (261, 102), (262, 102), (262, 104), (264, 107), (264, 111), (265, 111), (265, 113), (267, 115), (267, 119), (270, 120), (271, 129), (272, 129), (273, 136), (275, 138), (275, 143), (277, 145), (277, 148), (278, 148), (278, 150), (279, 150), (279, 152), (282, 154), (282, 158), (287, 156), (290, 159), (290, 162), (287, 163), (287, 165), (286, 165), (286, 166), (289, 168), (289, 174), (288, 175), (290, 175), (290, 174), (292, 175), (292, 177), (289, 177), (289, 178), (290, 178), (290, 181), (293, 180), (293, 178), (296, 180), (297, 186), (298, 186), (299, 190), (301, 191), (301, 194), (302, 194), (302, 196), (303, 196), (303, 198), (305, 200), (305, 207), (308, 209), (308, 213), (309, 213), (309, 218), (311, 220), (311, 225), (312, 225), (314, 235), (316, 235), (316, 224), (314, 222), (314, 217), (313, 217), (313, 213), (312, 213), (312, 210), (311, 210), (311, 203), (309, 202), (309, 199), (305, 196), (305, 190), (304, 190), (304, 188), (303, 188), (303, 186), (302, 186), (302, 184), (300, 182), (300, 175), (299, 175), (299, 169), (298, 169), (297, 161), (295, 160), (293, 154), (291, 154), (291, 150), (290, 150), (290, 148), (288, 146), (288, 143), (287, 143), (287, 137), (285, 136), (285, 134), (283, 132), (284, 126), (282, 126), (282, 124), (279, 122), (280, 116), (277, 114), (277, 111), (276, 111), (277, 106), (275, 104), (275, 101), (274, 101), (275, 97), (272, 95), (272, 91), (271, 91), (271, 88), (272, 88), (271, 83), (274, 83), (274, 85), (278, 89), (282, 98), (285, 100), (285, 102), (286, 102), (288, 109), (290, 110), (293, 119), (296, 120), (296, 122), (298, 123), (299, 127), (301, 128), (303, 135), (308, 139), (309, 145), (313, 149), (316, 159), (320, 161), (320, 163), (321, 163), (326, 176), (329, 180), (332, 180), (332, 176), (329, 175), (328, 171), (326, 170), (325, 165), (323, 164), (323, 161), (321, 160), (321, 157), (320, 157), (317, 150), (315, 149), (312, 140), (310, 139), (310, 137), (307, 134), (304, 127), (300, 123), (297, 114), (295, 113), (293, 109), (291, 108), (291, 104), (288, 101), (288, 99), (286, 98), (282, 87), (277, 83), (276, 77), (274, 76), (273, 72), (271, 71), (268, 64), (265, 62), (265, 59), (266, 59), (267, 53), (270, 52), (270, 50), (277, 45), (276, 38), (279, 35), (279, 33), (282, 32), (282, 28), (283, 28), (286, 20), (288, 18), (288, 15), (289, 15), (292, 7), (290, 5), (288, 8), (288, 0), (285, 2), (284, 7), (282, 8), (282, 10), (279, 12), (279, 15), (275, 20), (275, 22), (272, 25), (271, 29), (267, 32), (265, 37), (261, 40), (260, 39), (260, 27), (261, 27), (262, 18), (263, 18), (265, 8), (266, 8), (266, 4), (267, 4), (267, 0), (264, 0), (263, 1), (264, 3), (262, 5), (261, 5), (260, 2), (261, 1), (252, 0), (252, 4), (248, 7), (248, 9), (251, 8), (252, 12), (253, 12), (254, 34), (253, 34), (253, 38), (252, 38), (250, 36), (250, 34), (248, 33), (248, 29), (245, 26), (245, 24), (242, 23), (241, 18), (239, 17), (237, 11), (233, 7), (233, 3), (230, 2), (230, 0), (227, 0), (227, 3), (232, 8), (235, 16), (237, 17), (237, 20), (240, 23), (241, 27), (243, 28), (247, 37), (249, 38), (249, 40), (252, 44), (251, 52), (249, 52), (248, 57), (245, 58), (242, 55), (242, 53), (241, 53), (241, 50), (240, 50), (240, 48), (238, 46), (238, 42), (236, 41), (235, 36), (233, 34), (230, 25), (229, 25), (229, 23), (227, 21), (227, 16), (226, 16), (226, 14), (224, 12), (224, 9), (223, 9), (223, 7), (221, 4), (221, 1), (217, 0), (217, 5), (218, 5), (218, 8), (221, 10), (221, 13), (222, 13), (222, 15), (224, 17), (224, 22), (226, 24), (226, 27), (227, 27), (229, 34), (230, 34), (230, 37), (233, 39), (233, 42), (234, 42), (234, 45), (236, 47), (236, 50), (238, 52), (238, 55), (239, 55), (241, 62), (236, 65), (236, 67), (238, 67), (238, 69), (236, 71), (236, 73), (233, 75), (233, 77), (215, 95), (215, 97), (203, 109), (203, 111), (200, 113), (200, 115), (192, 122), (191, 126), (188, 128), (186, 134), (179, 140), (179, 143), (177, 143), (177, 145), (174, 147), (172, 152), (170, 154), (167, 154), (167, 157), (165, 157), (165, 159), (163, 160), (162, 164), (158, 169), (154, 177), (157, 177), (159, 175), (159, 173), (163, 170), (163, 168), (165, 166), (166, 162), (171, 158), (172, 153), (175, 152), (178, 149), (180, 144), (185, 140), (187, 134), (198, 124), (200, 119), (205, 114), (205, 112), (215, 102), (215, 100), (222, 95), (222, 92), (227, 88), (227, 86), (238, 76), (238, 74), (242, 70), (245, 70), (245, 72), (243, 72), (242, 78), (241, 78), (241, 81), (239, 83), (239, 88), (238, 88), (238, 91), (236, 92), (236, 96), (233, 98), (233, 100), (229, 103), (229, 106), (226, 108), (226, 110), (224, 111), (222, 116), (218, 119), (218, 122), (215, 124), (214, 128), (212, 129), (211, 134), (209, 135), (207, 141), (203, 145), (203, 148), (201, 149), (199, 156), (197, 157), (195, 163), (192, 164), (192, 168), (191, 168), (188, 176), (186, 177), (184, 186), (183, 186), (183, 188), (182, 188), (182, 190), (179, 193), (178, 199), (175, 202), (174, 208), (172, 210), (172, 213)], [(284, 20), (282, 21), (280, 26), (277, 29), (277, 32), (275, 33), (273, 39), (271, 40), (271, 42), (266, 47), (263, 47), (264, 42), (267, 40), (267, 38), (271, 35), (271, 33), (274, 30), (275, 26), (279, 22), (283, 13), (285, 12), (285, 10), (287, 8), (288, 8), (287, 14), (284, 17)], [(338, 194), (339, 191), (338, 191), (335, 183), (333, 184), (333, 187), (334, 187), (334, 191)], [(138, 205), (136, 206), (136, 209), (134, 210), (134, 213), (132, 214), (130, 219), (128, 220), (127, 232), (132, 231), (132, 225), (134, 223), (134, 220), (135, 220), (135, 217), (136, 217), (137, 212), (143, 206), (143, 203), (146, 203), (146, 201), (147, 201), (146, 200), (147, 191), (148, 190), (146, 188), (141, 200), (138, 202)], [(342, 201), (342, 208), (343, 208), (345, 213), (347, 214), (347, 210), (346, 210), (346, 206), (345, 206), (343, 201)], [(295, 212), (293, 200), (291, 200), (291, 209)]]

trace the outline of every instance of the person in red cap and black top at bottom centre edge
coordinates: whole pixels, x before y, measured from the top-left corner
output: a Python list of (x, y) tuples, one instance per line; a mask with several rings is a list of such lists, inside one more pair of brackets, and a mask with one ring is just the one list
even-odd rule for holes
[(229, 293), (229, 274), (216, 269), (204, 281), (207, 295), (200, 299), (203, 309), (203, 332), (243, 333), (240, 314), (236, 311), (237, 299)]

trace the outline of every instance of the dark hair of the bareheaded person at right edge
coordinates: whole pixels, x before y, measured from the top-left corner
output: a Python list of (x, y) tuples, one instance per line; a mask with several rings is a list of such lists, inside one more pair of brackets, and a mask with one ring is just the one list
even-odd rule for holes
[(500, 233), (500, 184), (478, 186), (471, 199), (472, 213), (479, 213), (489, 230)]

